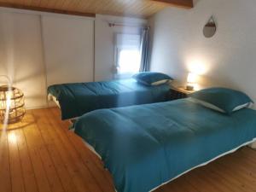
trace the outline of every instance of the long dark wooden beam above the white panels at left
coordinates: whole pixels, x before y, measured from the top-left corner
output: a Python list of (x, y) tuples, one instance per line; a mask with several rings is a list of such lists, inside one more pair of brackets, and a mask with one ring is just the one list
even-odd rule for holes
[(32, 10), (32, 11), (42, 11), (42, 12), (47, 12), (47, 13), (63, 14), (63, 15), (77, 15), (77, 16), (85, 16), (85, 17), (95, 17), (96, 16), (95, 14), (91, 14), (91, 13), (67, 11), (67, 10), (61, 10), (61, 9), (33, 7), (33, 6), (26, 6), (26, 5), (13, 4), (13, 3), (0, 3), (0, 7), (14, 8), (14, 9), (26, 9), (26, 10)]

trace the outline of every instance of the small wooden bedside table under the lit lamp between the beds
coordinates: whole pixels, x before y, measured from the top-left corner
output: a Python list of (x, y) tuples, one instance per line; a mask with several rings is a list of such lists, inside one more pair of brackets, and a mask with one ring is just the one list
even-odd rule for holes
[(168, 93), (168, 99), (170, 101), (176, 99), (187, 98), (189, 94), (194, 93), (195, 90), (186, 90), (184, 87), (174, 87), (172, 86)]

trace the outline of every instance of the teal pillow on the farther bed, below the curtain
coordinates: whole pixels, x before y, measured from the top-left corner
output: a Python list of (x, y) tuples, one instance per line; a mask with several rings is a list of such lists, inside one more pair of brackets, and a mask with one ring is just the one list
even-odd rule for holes
[(157, 73), (157, 72), (142, 72), (137, 73), (132, 76), (133, 79), (136, 79), (137, 82), (146, 85), (160, 85), (166, 84), (167, 81), (172, 80), (169, 75), (165, 73)]

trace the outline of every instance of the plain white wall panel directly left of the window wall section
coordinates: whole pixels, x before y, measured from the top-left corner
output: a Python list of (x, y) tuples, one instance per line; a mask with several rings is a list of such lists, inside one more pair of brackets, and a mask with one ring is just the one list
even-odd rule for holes
[(47, 85), (93, 81), (94, 19), (42, 16)]

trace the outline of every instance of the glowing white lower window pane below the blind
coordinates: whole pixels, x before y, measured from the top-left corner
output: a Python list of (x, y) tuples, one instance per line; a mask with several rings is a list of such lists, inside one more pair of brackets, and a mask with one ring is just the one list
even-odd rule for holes
[(119, 73), (137, 73), (141, 54), (137, 49), (121, 49), (119, 52)]

